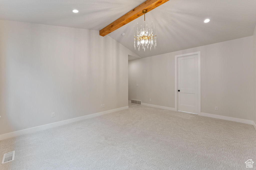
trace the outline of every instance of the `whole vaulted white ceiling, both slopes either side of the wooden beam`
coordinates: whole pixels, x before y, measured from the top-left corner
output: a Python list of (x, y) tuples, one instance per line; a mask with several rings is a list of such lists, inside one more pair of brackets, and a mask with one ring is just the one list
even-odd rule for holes
[[(145, 0), (0, 0), (0, 19), (101, 30)], [(72, 9), (78, 9), (74, 14)], [(210, 18), (209, 23), (203, 20)], [(156, 49), (134, 50), (133, 26), (143, 16), (109, 36), (140, 57), (253, 35), (255, 0), (170, 0), (146, 14), (157, 27)], [(122, 36), (121, 33), (125, 33)]]

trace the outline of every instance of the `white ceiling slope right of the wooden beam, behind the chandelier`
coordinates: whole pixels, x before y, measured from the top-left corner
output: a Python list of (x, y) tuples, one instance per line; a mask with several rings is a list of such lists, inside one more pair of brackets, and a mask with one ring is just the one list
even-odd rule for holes
[[(206, 18), (211, 21), (204, 23)], [(145, 52), (134, 50), (133, 38), (133, 27), (143, 21), (137, 18), (109, 36), (142, 58), (251, 36), (256, 0), (170, 0), (146, 14), (146, 24), (156, 24), (157, 47)]]

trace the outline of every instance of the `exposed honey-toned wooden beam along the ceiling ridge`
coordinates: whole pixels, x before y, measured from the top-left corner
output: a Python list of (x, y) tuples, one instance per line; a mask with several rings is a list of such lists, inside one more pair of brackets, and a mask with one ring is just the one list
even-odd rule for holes
[(109, 33), (119, 29), (123, 25), (135, 20), (136, 18), (140, 17), (143, 15), (142, 10), (146, 9), (148, 12), (151, 11), (152, 9), (155, 9), (156, 7), (164, 4), (169, 0), (147, 0), (140, 4), (139, 6), (135, 7), (133, 10), (127, 12), (125, 15), (122, 17), (118, 18), (102, 30), (100, 30), (100, 35), (105, 36), (108, 35)]

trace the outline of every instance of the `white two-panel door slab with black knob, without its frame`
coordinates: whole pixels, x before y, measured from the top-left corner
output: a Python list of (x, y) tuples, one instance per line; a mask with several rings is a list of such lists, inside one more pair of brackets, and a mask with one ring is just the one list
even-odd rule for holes
[(198, 54), (178, 57), (178, 111), (198, 113)]

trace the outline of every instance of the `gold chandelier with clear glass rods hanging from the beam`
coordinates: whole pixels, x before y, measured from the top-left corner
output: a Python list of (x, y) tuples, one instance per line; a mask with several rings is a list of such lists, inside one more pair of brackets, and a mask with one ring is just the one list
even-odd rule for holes
[(153, 33), (153, 22), (151, 27), (148, 30), (145, 22), (145, 14), (147, 13), (147, 10), (144, 9), (142, 13), (144, 14), (144, 28), (142, 29), (142, 25), (141, 25), (141, 30), (139, 31), (138, 23), (137, 23), (136, 37), (135, 37), (135, 27), (134, 27), (134, 49), (136, 50), (136, 41), (137, 41), (137, 48), (139, 49), (139, 51), (140, 51), (140, 46), (142, 46), (142, 49), (144, 49), (144, 51), (146, 47), (148, 48), (148, 46), (150, 46), (150, 50), (152, 46), (156, 48), (156, 26), (155, 26), (154, 33)]

